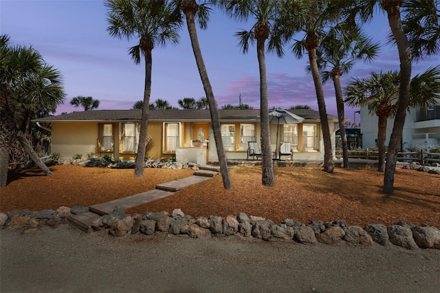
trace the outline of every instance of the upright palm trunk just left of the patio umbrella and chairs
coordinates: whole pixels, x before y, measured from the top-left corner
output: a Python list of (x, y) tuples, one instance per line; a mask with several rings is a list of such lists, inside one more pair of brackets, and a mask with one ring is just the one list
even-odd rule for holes
[(256, 54), (260, 69), (260, 117), (261, 117), (261, 155), (263, 160), (262, 182), (264, 186), (274, 186), (274, 163), (270, 153), (269, 94), (267, 94), (267, 74), (264, 41), (256, 39)]

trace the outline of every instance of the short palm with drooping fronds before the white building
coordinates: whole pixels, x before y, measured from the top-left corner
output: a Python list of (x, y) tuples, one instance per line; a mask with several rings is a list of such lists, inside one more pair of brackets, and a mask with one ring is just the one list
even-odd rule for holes
[[(346, 99), (350, 106), (368, 107), (375, 113), (377, 122), (377, 146), (379, 147), (378, 171), (384, 172), (386, 163), (386, 124), (389, 117), (396, 113), (399, 97), (399, 72), (385, 74), (371, 73), (369, 78), (353, 78), (346, 88)], [(440, 65), (430, 67), (417, 74), (411, 80), (410, 102), (407, 111), (415, 107), (429, 107), (440, 98)]]

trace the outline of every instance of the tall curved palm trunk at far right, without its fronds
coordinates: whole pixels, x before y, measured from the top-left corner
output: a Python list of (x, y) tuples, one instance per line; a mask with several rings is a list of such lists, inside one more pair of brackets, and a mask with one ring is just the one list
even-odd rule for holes
[[(385, 1), (390, 2), (389, 0)], [(392, 2), (392, 1), (391, 1)], [(388, 145), (388, 155), (384, 175), (384, 193), (391, 195), (394, 191), (394, 174), (396, 170), (397, 152), (400, 149), (401, 135), (404, 129), (406, 109), (410, 98), (411, 84), (411, 50), (410, 43), (404, 30), (401, 27), (399, 6), (386, 9), (388, 13), (388, 23), (391, 32), (397, 43), (400, 60), (400, 87), (399, 101), (397, 102), (397, 113), (394, 120), (393, 133), (391, 133)]]

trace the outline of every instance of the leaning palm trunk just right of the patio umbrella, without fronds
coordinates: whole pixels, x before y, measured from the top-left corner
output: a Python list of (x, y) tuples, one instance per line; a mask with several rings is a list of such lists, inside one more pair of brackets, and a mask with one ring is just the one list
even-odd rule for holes
[(308, 50), (307, 52), (309, 53), (311, 75), (313, 76), (315, 83), (319, 118), (321, 120), (322, 139), (324, 140), (324, 171), (327, 173), (333, 173), (334, 165), (329, 120), (327, 119), (327, 109), (325, 109), (324, 91), (322, 90), (321, 78), (319, 76), (318, 63), (316, 62), (316, 48)]

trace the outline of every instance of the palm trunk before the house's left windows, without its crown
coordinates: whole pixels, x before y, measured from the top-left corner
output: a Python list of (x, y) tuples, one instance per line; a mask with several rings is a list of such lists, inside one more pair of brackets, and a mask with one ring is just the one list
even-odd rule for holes
[(142, 177), (145, 169), (145, 148), (146, 148), (146, 130), (148, 127), (148, 112), (151, 94), (151, 68), (153, 65), (151, 50), (144, 51), (145, 56), (145, 85), (144, 85), (144, 105), (142, 107), (142, 118), (140, 120), (139, 145), (137, 146), (137, 155), (135, 161), (135, 177)]

